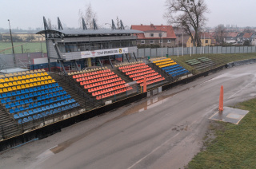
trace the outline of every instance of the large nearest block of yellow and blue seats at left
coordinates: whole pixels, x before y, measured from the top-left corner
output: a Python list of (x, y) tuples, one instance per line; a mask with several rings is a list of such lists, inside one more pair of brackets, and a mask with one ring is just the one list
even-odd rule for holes
[(43, 69), (1, 76), (0, 100), (18, 124), (80, 106)]

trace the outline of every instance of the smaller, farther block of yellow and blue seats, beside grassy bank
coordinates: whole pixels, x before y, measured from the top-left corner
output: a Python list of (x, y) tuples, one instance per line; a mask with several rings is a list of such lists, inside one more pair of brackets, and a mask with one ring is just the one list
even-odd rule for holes
[(170, 58), (160, 57), (150, 61), (152, 61), (155, 65), (157, 65), (160, 69), (164, 70), (172, 77), (178, 77), (189, 73), (188, 70), (184, 69)]

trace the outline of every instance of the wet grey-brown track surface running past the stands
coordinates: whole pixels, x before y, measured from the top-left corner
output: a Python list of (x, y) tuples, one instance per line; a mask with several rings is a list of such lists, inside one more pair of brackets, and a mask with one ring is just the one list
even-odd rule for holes
[(202, 77), (0, 155), (0, 168), (179, 168), (202, 147), (208, 118), (256, 96), (255, 65)]

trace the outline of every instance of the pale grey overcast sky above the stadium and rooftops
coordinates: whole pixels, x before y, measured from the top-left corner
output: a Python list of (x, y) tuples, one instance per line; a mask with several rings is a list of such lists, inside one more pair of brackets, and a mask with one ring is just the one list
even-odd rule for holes
[[(255, 0), (205, 0), (210, 14), (207, 26), (218, 24), (256, 26)], [(0, 27), (43, 28), (42, 16), (57, 25), (57, 17), (69, 27), (78, 27), (78, 10), (91, 3), (98, 15), (98, 23), (104, 26), (111, 19), (122, 19), (125, 26), (166, 24), (162, 17), (166, 12), (166, 0), (0, 0)], [(107, 25), (106, 25), (107, 26)]]

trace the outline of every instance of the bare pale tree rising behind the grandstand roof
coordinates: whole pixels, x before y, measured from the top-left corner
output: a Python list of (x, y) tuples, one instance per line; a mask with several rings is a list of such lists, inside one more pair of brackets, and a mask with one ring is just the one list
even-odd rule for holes
[(90, 5), (90, 3), (85, 6), (84, 11), (82, 9), (80, 9), (78, 11), (78, 16), (79, 16), (78, 22), (79, 22), (79, 25), (80, 25), (81, 28), (82, 28), (82, 18), (84, 18), (88, 29), (94, 29), (93, 19), (97, 23), (97, 14), (92, 9), (92, 6)]

